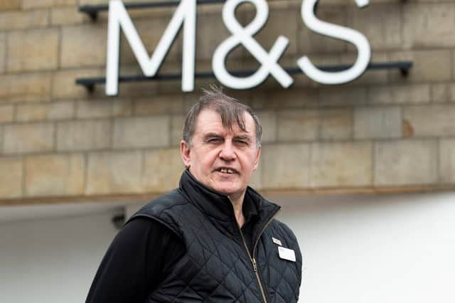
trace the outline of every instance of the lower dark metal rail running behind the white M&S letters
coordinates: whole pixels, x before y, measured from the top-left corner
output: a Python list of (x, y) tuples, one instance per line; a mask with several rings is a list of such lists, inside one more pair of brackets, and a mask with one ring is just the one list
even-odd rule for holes
[[(412, 61), (398, 61), (398, 62), (387, 62), (387, 63), (370, 63), (368, 65), (368, 70), (384, 70), (397, 68), (400, 70), (400, 73), (403, 77), (409, 75), (410, 68), (412, 68)], [(321, 65), (318, 66), (319, 69), (326, 72), (339, 72), (341, 70), (347, 70), (352, 65)], [(289, 74), (298, 74), (301, 73), (300, 68), (284, 68)], [(252, 75), (256, 70), (232, 70), (229, 73), (235, 75), (236, 77), (245, 77)], [(215, 75), (212, 72), (200, 72), (195, 73), (194, 78), (205, 79), (205, 78), (215, 78)], [(154, 75), (153, 77), (146, 77), (144, 75), (132, 75), (132, 76), (120, 76), (119, 83), (128, 83), (128, 82), (143, 82), (143, 81), (152, 81), (152, 80), (180, 80), (181, 73), (170, 73), (170, 74), (160, 74)], [(84, 86), (88, 92), (93, 92), (95, 90), (95, 85), (104, 85), (106, 83), (105, 77), (99, 78), (77, 78), (75, 80), (77, 85)]]

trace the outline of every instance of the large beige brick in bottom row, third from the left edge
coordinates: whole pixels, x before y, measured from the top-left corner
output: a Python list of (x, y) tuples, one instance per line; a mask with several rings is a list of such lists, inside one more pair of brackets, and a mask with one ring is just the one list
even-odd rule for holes
[(85, 193), (139, 193), (143, 155), (140, 151), (91, 153), (88, 156)]

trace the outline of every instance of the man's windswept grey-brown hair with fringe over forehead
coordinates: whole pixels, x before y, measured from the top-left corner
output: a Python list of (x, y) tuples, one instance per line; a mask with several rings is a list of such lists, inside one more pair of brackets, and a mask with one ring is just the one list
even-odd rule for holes
[(200, 112), (205, 109), (218, 112), (223, 127), (232, 129), (232, 125), (237, 124), (244, 132), (246, 131), (246, 128), (243, 114), (247, 112), (255, 121), (256, 146), (259, 147), (261, 144), (262, 127), (257, 115), (252, 111), (251, 107), (238, 102), (235, 98), (225, 95), (221, 87), (210, 85), (208, 89), (203, 89), (203, 95), (200, 96), (199, 101), (191, 107), (186, 115), (185, 124), (183, 126), (183, 140), (190, 146), (196, 127), (196, 120), (198, 119)]

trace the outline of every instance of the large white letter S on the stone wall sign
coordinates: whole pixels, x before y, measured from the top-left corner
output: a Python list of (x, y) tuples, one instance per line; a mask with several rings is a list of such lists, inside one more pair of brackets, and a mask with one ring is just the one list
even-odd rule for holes
[[(363, 7), (368, 5), (369, 0), (355, 0), (357, 5)], [(314, 6), (318, 0), (302, 0), (301, 17), (312, 31), (321, 35), (337, 38), (352, 43), (358, 49), (357, 60), (353, 66), (341, 72), (325, 72), (316, 68), (307, 56), (297, 60), (299, 68), (311, 79), (322, 84), (342, 84), (358, 78), (365, 72), (370, 63), (371, 49), (368, 39), (360, 32), (352, 28), (338, 26), (319, 20), (314, 15)]]

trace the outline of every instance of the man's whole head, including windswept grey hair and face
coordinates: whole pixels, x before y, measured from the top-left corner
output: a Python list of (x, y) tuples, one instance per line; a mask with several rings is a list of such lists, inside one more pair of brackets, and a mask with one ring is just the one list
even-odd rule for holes
[(259, 162), (261, 135), (251, 108), (212, 86), (186, 115), (183, 163), (205, 186), (242, 198)]

